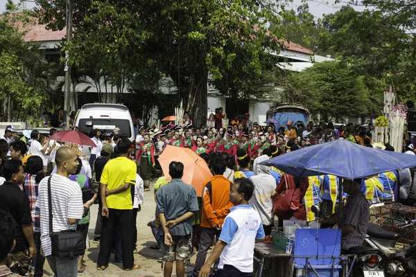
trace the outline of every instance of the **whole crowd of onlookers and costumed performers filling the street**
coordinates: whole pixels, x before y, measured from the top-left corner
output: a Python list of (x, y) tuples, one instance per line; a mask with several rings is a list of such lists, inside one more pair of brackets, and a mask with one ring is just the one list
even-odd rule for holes
[[(291, 121), (276, 127), (261, 127), (246, 117), (243, 122), (234, 118), (227, 128), (198, 128), (184, 113), (182, 125), (169, 124), (160, 130), (139, 127), (134, 144), (118, 128), (112, 134), (94, 129), (91, 138), (96, 147), (89, 149), (89, 161), (80, 145), (52, 141), (35, 130), (25, 141), (12, 126), (6, 127), (0, 139), (0, 272), (6, 272), (3, 276), (43, 276), (47, 260), (55, 276), (83, 273), (83, 256), (53, 255), (50, 235), (77, 230), (83, 234), (86, 249), (93, 204), (98, 204), (93, 242), (100, 245), (96, 268), (107, 269), (112, 251), (123, 269), (141, 268), (133, 256), (137, 253), (137, 213), (153, 177), (158, 177), (155, 220), (148, 226), (157, 244), (150, 248), (160, 249), (164, 276), (171, 276), (174, 262), (177, 276), (184, 276), (184, 265), (193, 251), (198, 253), (189, 277), (252, 276), (255, 242), (291, 218), (311, 222), (320, 217), (331, 224), (334, 219), (329, 215), (340, 204), (345, 204), (347, 216), (338, 225), (343, 230), (342, 248), (348, 251), (363, 243), (371, 203), (392, 199), (416, 203), (410, 170), (340, 181), (333, 175), (297, 178), (262, 164), (335, 139), (372, 147), (368, 129)], [(55, 132), (52, 128), (50, 135)], [(190, 148), (207, 162), (213, 177), (205, 180), (201, 197), (192, 184), (182, 181), (187, 168), (180, 161), (173, 161), (168, 172), (159, 171), (162, 176), (158, 176), (157, 158), (166, 145)], [(404, 141), (404, 146), (406, 154), (415, 154), (412, 141)], [(388, 144), (383, 149), (394, 151)], [(293, 205), (277, 211), (275, 196), (292, 188), (298, 191)], [(320, 206), (318, 215), (313, 205)]]

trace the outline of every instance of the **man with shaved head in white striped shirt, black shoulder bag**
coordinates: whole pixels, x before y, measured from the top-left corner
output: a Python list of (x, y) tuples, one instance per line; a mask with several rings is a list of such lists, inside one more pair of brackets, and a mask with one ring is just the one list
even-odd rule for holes
[(40, 231), (42, 251), (55, 276), (77, 276), (78, 256), (56, 258), (52, 256), (52, 243), (49, 230), (48, 180), (51, 178), (51, 199), (53, 214), (53, 232), (75, 230), (77, 222), (89, 212), (91, 200), (83, 204), (83, 193), (76, 181), (68, 179), (75, 174), (78, 166), (77, 156), (71, 148), (60, 148), (56, 152), (55, 163), (58, 170), (55, 175), (44, 178), (39, 184), (36, 206), (40, 208)]

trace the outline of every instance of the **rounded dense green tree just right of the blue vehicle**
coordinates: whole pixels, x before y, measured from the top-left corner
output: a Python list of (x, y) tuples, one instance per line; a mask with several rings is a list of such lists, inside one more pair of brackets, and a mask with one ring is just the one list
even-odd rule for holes
[(366, 114), (369, 98), (364, 77), (347, 64), (322, 62), (293, 73), (284, 84), (282, 98), (294, 98), (313, 114), (336, 122), (343, 116)]

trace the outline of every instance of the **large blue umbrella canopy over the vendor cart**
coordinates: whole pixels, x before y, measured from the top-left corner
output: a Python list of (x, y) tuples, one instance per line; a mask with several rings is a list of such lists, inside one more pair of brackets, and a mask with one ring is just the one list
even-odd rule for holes
[(284, 154), (261, 164), (275, 166), (296, 177), (329, 174), (356, 179), (413, 168), (416, 166), (416, 155), (367, 148), (338, 139)]

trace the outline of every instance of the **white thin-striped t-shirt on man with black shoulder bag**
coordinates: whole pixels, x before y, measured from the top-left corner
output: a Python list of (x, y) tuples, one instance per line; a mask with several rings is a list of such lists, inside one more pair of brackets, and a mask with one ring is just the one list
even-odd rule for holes
[[(52, 254), (51, 238), (49, 237), (49, 199), (48, 180), (46, 177), (40, 181), (39, 195), (36, 206), (40, 208), (40, 240), (44, 256)], [(53, 232), (75, 230), (77, 224), (69, 224), (68, 218), (80, 220), (83, 217), (83, 193), (76, 181), (55, 174), (51, 179), (51, 199), (53, 215)]]

